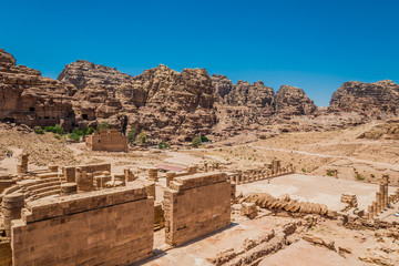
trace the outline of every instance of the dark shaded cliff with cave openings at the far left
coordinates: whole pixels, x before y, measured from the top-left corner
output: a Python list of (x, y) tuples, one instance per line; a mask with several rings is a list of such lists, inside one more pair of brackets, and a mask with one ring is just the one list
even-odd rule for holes
[(71, 96), (75, 88), (41, 76), (38, 70), (18, 65), (0, 49), (0, 121), (35, 125), (74, 123)]

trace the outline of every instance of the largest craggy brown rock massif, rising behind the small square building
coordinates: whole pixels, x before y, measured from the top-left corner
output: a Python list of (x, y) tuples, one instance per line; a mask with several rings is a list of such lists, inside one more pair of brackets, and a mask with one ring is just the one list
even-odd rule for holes
[(187, 141), (208, 134), (216, 121), (205, 69), (180, 73), (161, 64), (131, 76), (80, 60), (66, 65), (59, 80), (79, 89), (73, 109), (80, 125), (106, 121), (123, 131), (145, 130), (152, 139)]

